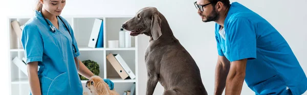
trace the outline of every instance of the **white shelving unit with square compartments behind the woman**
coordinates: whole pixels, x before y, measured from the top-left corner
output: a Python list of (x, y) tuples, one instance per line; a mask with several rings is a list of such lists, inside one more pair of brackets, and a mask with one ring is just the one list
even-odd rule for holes
[[(78, 43), (81, 61), (92, 60), (99, 64), (101, 78), (111, 79), (114, 82), (114, 89), (120, 94), (123, 94), (125, 90), (130, 90), (133, 83), (136, 83), (135, 94), (138, 94), (138, 38), (131, 37), (131, 47), (118, 47), (118, 48), (107, 48), (108, 40), (119, 40), (119, 31), (121, 25), (126, 20), (133, 17), (133, 15), (95, 15), (95, 16), (62, 16), (64, 17), (72, 26), (75, 34), (76, 41)], [(21, 45), (20, 39), (18, 39), (15, 34), (11, 22), (17, 20), (20, 25), (24, 25), (31, 16), (21, 17), (21, 16), (12, 16), (8, 18), (9, 25), (9, 70), (10, 70), (10, 92), (12, 95), (15, 94), (29, 94), (30, 86), (28, 77), (21, 72), (21, 70), (12, 62), (13, 58), (18, 57), (20, 60), (24, 57), (23, 46)], [(103, 19), (104, 25), (104, 45), (103, 47), (92, 48), (87, 47), (89, 43), (90, 35), (94, 25), (95, 18)], [(47, 31), (47, 30), (46, 30)], [(136, 75), (135, 79), (126, 79), (122, 80), (117, 74), (116, 70), (112, 65), (107, 61), (106, 55), (109, 53), (120, 54), (125, 60), (127, 65)], [(90, 91), (85, 88), (86, 80), (82, 80), (83, 91)]]

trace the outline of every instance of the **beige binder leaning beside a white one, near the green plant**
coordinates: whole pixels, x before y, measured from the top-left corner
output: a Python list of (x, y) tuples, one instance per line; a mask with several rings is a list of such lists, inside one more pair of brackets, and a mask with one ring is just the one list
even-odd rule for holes
[(111, 65), (114, 67), (116, 72), (119, 74), (119, 76), (124, 80), (128, 78), (128, 74), (126, 71), (123, 69), (123, 67), (119, 64), (119, 62), (116, 60), (114, 57), (115, 55), (110, 53), (106, 56), (106, 59), (111, 63)]

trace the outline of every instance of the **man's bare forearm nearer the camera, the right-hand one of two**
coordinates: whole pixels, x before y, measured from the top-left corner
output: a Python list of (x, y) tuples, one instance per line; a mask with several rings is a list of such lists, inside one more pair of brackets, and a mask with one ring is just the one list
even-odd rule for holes
[(245, 78), (247, 59), (233, 61), (226, 80), (225, 94), (240, 94)]

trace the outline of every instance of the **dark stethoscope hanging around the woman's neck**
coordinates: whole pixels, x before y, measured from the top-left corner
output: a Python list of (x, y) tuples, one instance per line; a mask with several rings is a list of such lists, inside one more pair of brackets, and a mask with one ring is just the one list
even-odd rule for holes
[[(41, 13), (41, 9), (40, 9), (40, 13)], [(50, 29), (51, 29), (51, 32), (52, 32), (52, 33), (55, 33), (55, 32), (56, 32), (55, 27), (50, 25), (50, 23), (49, 23), (49, 22), (47, 21), (47, 19), (42, 15), (42, 13), (41, 13), (41, 16), (42, 16), (42, 18), (45, 19), (45, 21), (47, 22), (48, 26), (49, 26)], [(57, 17), (59, 17), (60, 20), (63, 22), (65, 28), (67, 29), (67, 31), (69, 32), (69, 35), (70, 35), (71, 38), (72, 38), (72, 41), (74, 41), (74, 40), (73, 40), (73, 37), (72, 37), (72, 35), (71, 35), (70, 31), (69, 31), (69, 28), (67, 27), (67, 25), (64, 23), (64, 21), (62, 20), (62, 18), (61, 18), (60, 16), (57, 16)], [(74, 47), (73, 50), (75, 51), (75, 54), (76, 54), (76, 53), (77, 53), (76, 47), (75, 47), (75, 45), (74, 45), (74, 42), (72, 42), (72, 43), (73, 43), (73, 47)], [(78, 58), (77, 58), (77, 61), (78, 61), (78, 65), (79, 65), (79, 60), (78, 60)], [(77, 69), (79, 70), (79, 66), (78, 66)]]

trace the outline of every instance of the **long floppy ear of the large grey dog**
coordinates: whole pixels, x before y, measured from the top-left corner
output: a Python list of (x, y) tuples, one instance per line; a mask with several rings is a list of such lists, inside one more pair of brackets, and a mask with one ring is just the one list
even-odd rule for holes
[(159, 15), (151, 16), (151, 36), (153, 40), (157, 40), (162, 35), (161, 32), (161, 19)]

